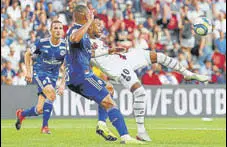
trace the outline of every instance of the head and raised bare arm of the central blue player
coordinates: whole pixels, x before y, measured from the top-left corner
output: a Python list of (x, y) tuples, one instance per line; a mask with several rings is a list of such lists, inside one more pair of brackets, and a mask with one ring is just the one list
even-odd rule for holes
[(94, 20), (94, 14), (93, 11), (90, 11), (86, 6), (78, 5), (75, 8), (73, 16), (75, 23), (83, 25), (78, 30), (73, 31), (73, 33), (70, 35), (70, 41), (78, 43), (92, 24)]

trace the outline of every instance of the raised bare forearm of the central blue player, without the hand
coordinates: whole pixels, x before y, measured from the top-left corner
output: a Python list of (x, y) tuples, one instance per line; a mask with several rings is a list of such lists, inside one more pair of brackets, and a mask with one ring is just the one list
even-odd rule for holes
[(75, 42), (75, 43), (79, 43), (80, 40), (83, 38), (84, 34), (87, 32), (87, 30), (90, 27), (90, 25), (92, 24), (92, 21), (93, 20), (88, 21), (80, 29), (74, 31), (70, 35), (70, 41), (71, 42)]

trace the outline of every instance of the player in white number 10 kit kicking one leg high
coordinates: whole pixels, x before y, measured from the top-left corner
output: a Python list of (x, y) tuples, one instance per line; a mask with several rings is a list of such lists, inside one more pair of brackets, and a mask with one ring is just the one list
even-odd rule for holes
[[(101, 22), (98, 19), (95, 19), (88, 30), (92, 46), (96, 48), (96, 52), (98, 52), (98, 50), (101, 50), (99, 52), (106, 52), (108, 50), (108, 46), (106, 46), (99, 38), (102, 35), (102, 29)], [(208, 77), (188, 71), (177, 60), (166, 56), (163, 53), (134, 49), (124, 55), (126, 60), (121, 59), (118, 55), (107, 55), (94, 58), (92, 59), (92, 62), (112, 80), (121, 83), (125, 88), (133, 93), (134, 116), (138, 128), (137, 139), (151, 141), (144, 127), (146, 92), (135, 71), (149, 66), (152, 63), (160, 63), (168, 68), (179, 71), (187, 80), (195, 79), (201, 82), (206, 82), (208, 81)], [(105, 123), (107, 118), (106, 112), (101, 107), (99, 107), (99, 116), (102, 117), (99, 117), (98, 126)]]

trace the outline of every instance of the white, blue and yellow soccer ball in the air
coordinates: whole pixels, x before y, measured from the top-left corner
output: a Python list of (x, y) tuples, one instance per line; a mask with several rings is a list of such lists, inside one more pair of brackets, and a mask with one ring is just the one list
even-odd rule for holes
[(206, 36), (212, 30), (211, 22), (206, 17), (198, 17), (193, 24), (194, 31), (199, 36)]

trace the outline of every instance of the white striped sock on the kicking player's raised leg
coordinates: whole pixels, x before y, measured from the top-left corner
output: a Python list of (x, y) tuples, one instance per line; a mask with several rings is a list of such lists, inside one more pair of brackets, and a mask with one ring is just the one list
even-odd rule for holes
[(174, 69), (183, 74), (184, 76), (193, 75), (193, 73), (187, 70), (183, 65), (181, 65), (179, 61), (169, 56), (166, 56), (163, 53), (157, 53), (157, 63), (160, 63), (168, 68)]

